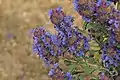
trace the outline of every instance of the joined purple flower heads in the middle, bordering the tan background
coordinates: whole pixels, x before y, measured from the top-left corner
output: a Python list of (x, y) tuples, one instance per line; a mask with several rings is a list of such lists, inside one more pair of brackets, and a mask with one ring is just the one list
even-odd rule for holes
[(59, 67), (59, 56), (64, 57), (65, 52), (84, 56), (89, 50), (89, 39), (73, 26), (73, 17), (66, 16), (61, 7), (51, 9), (49, 16), (57, 33), (50, 34), (43, 27), (33, 29), (33, 50), (50, 69), (48, 75), (51, 78), (72, 80), (70, 72), (65, 73)]

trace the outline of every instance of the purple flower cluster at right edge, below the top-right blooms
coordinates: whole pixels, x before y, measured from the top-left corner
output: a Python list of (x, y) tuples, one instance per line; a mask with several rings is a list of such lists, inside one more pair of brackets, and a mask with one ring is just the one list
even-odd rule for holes
[[(112, 29), (113, 30), (113, 29)], [(120, 65), (120, 42), (116, 39), (114, 31), (109, 31), (108, 41), (103, 45), (102, 60), (106, 68), (118, 67)]]

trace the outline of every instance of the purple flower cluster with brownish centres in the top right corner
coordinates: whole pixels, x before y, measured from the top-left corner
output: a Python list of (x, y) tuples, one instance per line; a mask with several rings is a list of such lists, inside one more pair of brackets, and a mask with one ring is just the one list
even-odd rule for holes
[(111, 7), (111, 2), (106, 0), (74, 0), (75, 10), (82, 16), (86, 22), (96, 22), (105, 24), (107, 21), (112, 22), (114, 26), (120, 25), (120, 11)]

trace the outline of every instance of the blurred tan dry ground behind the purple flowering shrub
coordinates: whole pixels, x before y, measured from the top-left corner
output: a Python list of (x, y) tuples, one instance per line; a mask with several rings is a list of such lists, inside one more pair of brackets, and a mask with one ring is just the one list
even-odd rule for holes
[(39, 25), (54, 33), (48, 10), (58, 6), (81, 25), (70, 0), (0, 0), (0, 80), (49, 80), (42, 61), (32, 55), (29, 31)]

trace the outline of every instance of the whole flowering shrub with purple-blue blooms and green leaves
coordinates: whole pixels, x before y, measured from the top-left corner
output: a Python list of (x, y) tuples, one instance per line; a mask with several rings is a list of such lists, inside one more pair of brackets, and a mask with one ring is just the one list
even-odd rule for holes
[[(111, 3), (74, 0), (74, 8), (84, 20), (83, 30), (61, 7), (49, 11), (56, 34), (44, 27), (33, 29), (33, 50), (53, 80), (111, 80), (119, 76), (120, 11)], [(61, 58), (68, 70), (59, 65)]]

